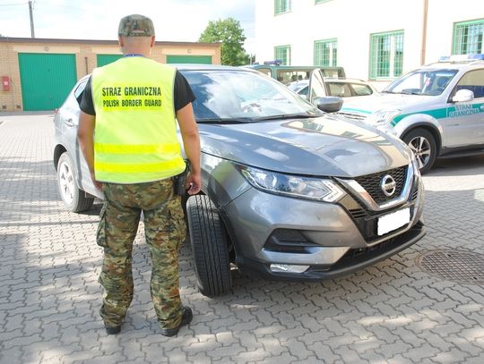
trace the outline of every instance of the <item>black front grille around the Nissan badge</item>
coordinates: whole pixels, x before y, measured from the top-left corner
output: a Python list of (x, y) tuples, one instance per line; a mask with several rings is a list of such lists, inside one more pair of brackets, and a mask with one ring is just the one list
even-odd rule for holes
[[(382, 190), (380, 183), (385, 175), (391, 175), (396, 182), (396, 190), (392, 196), (386, 196)], [(356, 182), (359, 182), (361, 187), (363, 187), (370, 194), (372, 199), (378, 205), (381, 205), (395, 197), (400, 196), (403, 190), (403, 185), (405, 184), (405, 175), (407, 174), (407, 166), (402, 166), (400, 168), (395, 168), (390, 171), (378, 173), (378, 174), (367, 174), (361, 177), (355, 178)]]

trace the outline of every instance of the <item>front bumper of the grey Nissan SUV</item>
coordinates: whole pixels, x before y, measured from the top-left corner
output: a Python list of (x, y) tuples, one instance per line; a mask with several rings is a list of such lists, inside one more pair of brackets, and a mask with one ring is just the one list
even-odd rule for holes
[[(377, 212), (351, 209), (354, 199), (331, 204), (251, 188), (223, 207), (220, 214), (236, 251), (236, 264), (244, 274), (321, 280), (388, 258), (425, 235), (423, 186), (417, 181), (412, 186), (408, 200)], [(410, 223), (378, 236), (378, 218), (403, 208), (411, 211)], [(303, 272), (293, 273), (278, 271), (272, 265), (305, 267)]]

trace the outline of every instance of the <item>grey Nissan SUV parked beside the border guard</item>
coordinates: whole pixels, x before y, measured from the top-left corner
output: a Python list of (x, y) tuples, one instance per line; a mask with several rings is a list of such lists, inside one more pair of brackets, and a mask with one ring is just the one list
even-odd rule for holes
[[(321, 280), (388, 258), (425, 235), (419, 169), (401, 140), (362, 123), (337, 123), (259, 72), (178, 70), (194, 90), (202, 142), (202, 193), (185, 206), (203, 294), (229, 292), (231, 264), (247, 275)], [(54, 120), (60, 196), (78, 212), (102, 198), (75, 138), (85, 82)], [(341, 107), (341, 99), (327, 101)]]

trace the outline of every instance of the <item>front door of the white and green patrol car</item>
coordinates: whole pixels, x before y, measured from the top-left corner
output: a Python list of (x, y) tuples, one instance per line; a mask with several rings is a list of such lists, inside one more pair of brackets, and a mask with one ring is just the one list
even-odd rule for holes
[(484, 69), (464, 73), (457, 82), (451, 99), (460, 89), (470, 89), (474, 98), (468, 102), (449, 100), (443, 125), (447, 148), (484, 144)]

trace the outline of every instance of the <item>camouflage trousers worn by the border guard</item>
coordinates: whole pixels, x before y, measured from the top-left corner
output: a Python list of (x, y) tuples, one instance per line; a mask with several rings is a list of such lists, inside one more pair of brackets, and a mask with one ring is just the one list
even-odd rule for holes
[(105, 203), (100, 213), (97, 242), (104, 248), (99, 283), (104, 288), (100, 315), (105, 326), (120, 326), (133, 300), (133, 241), (141, 213), (151, 252), (151, 300), (160, 326), (179, 325), (183, 306), (179, 295), (178, 251), (186, 237), (180, 197), (172, 180), (103, 183)]

